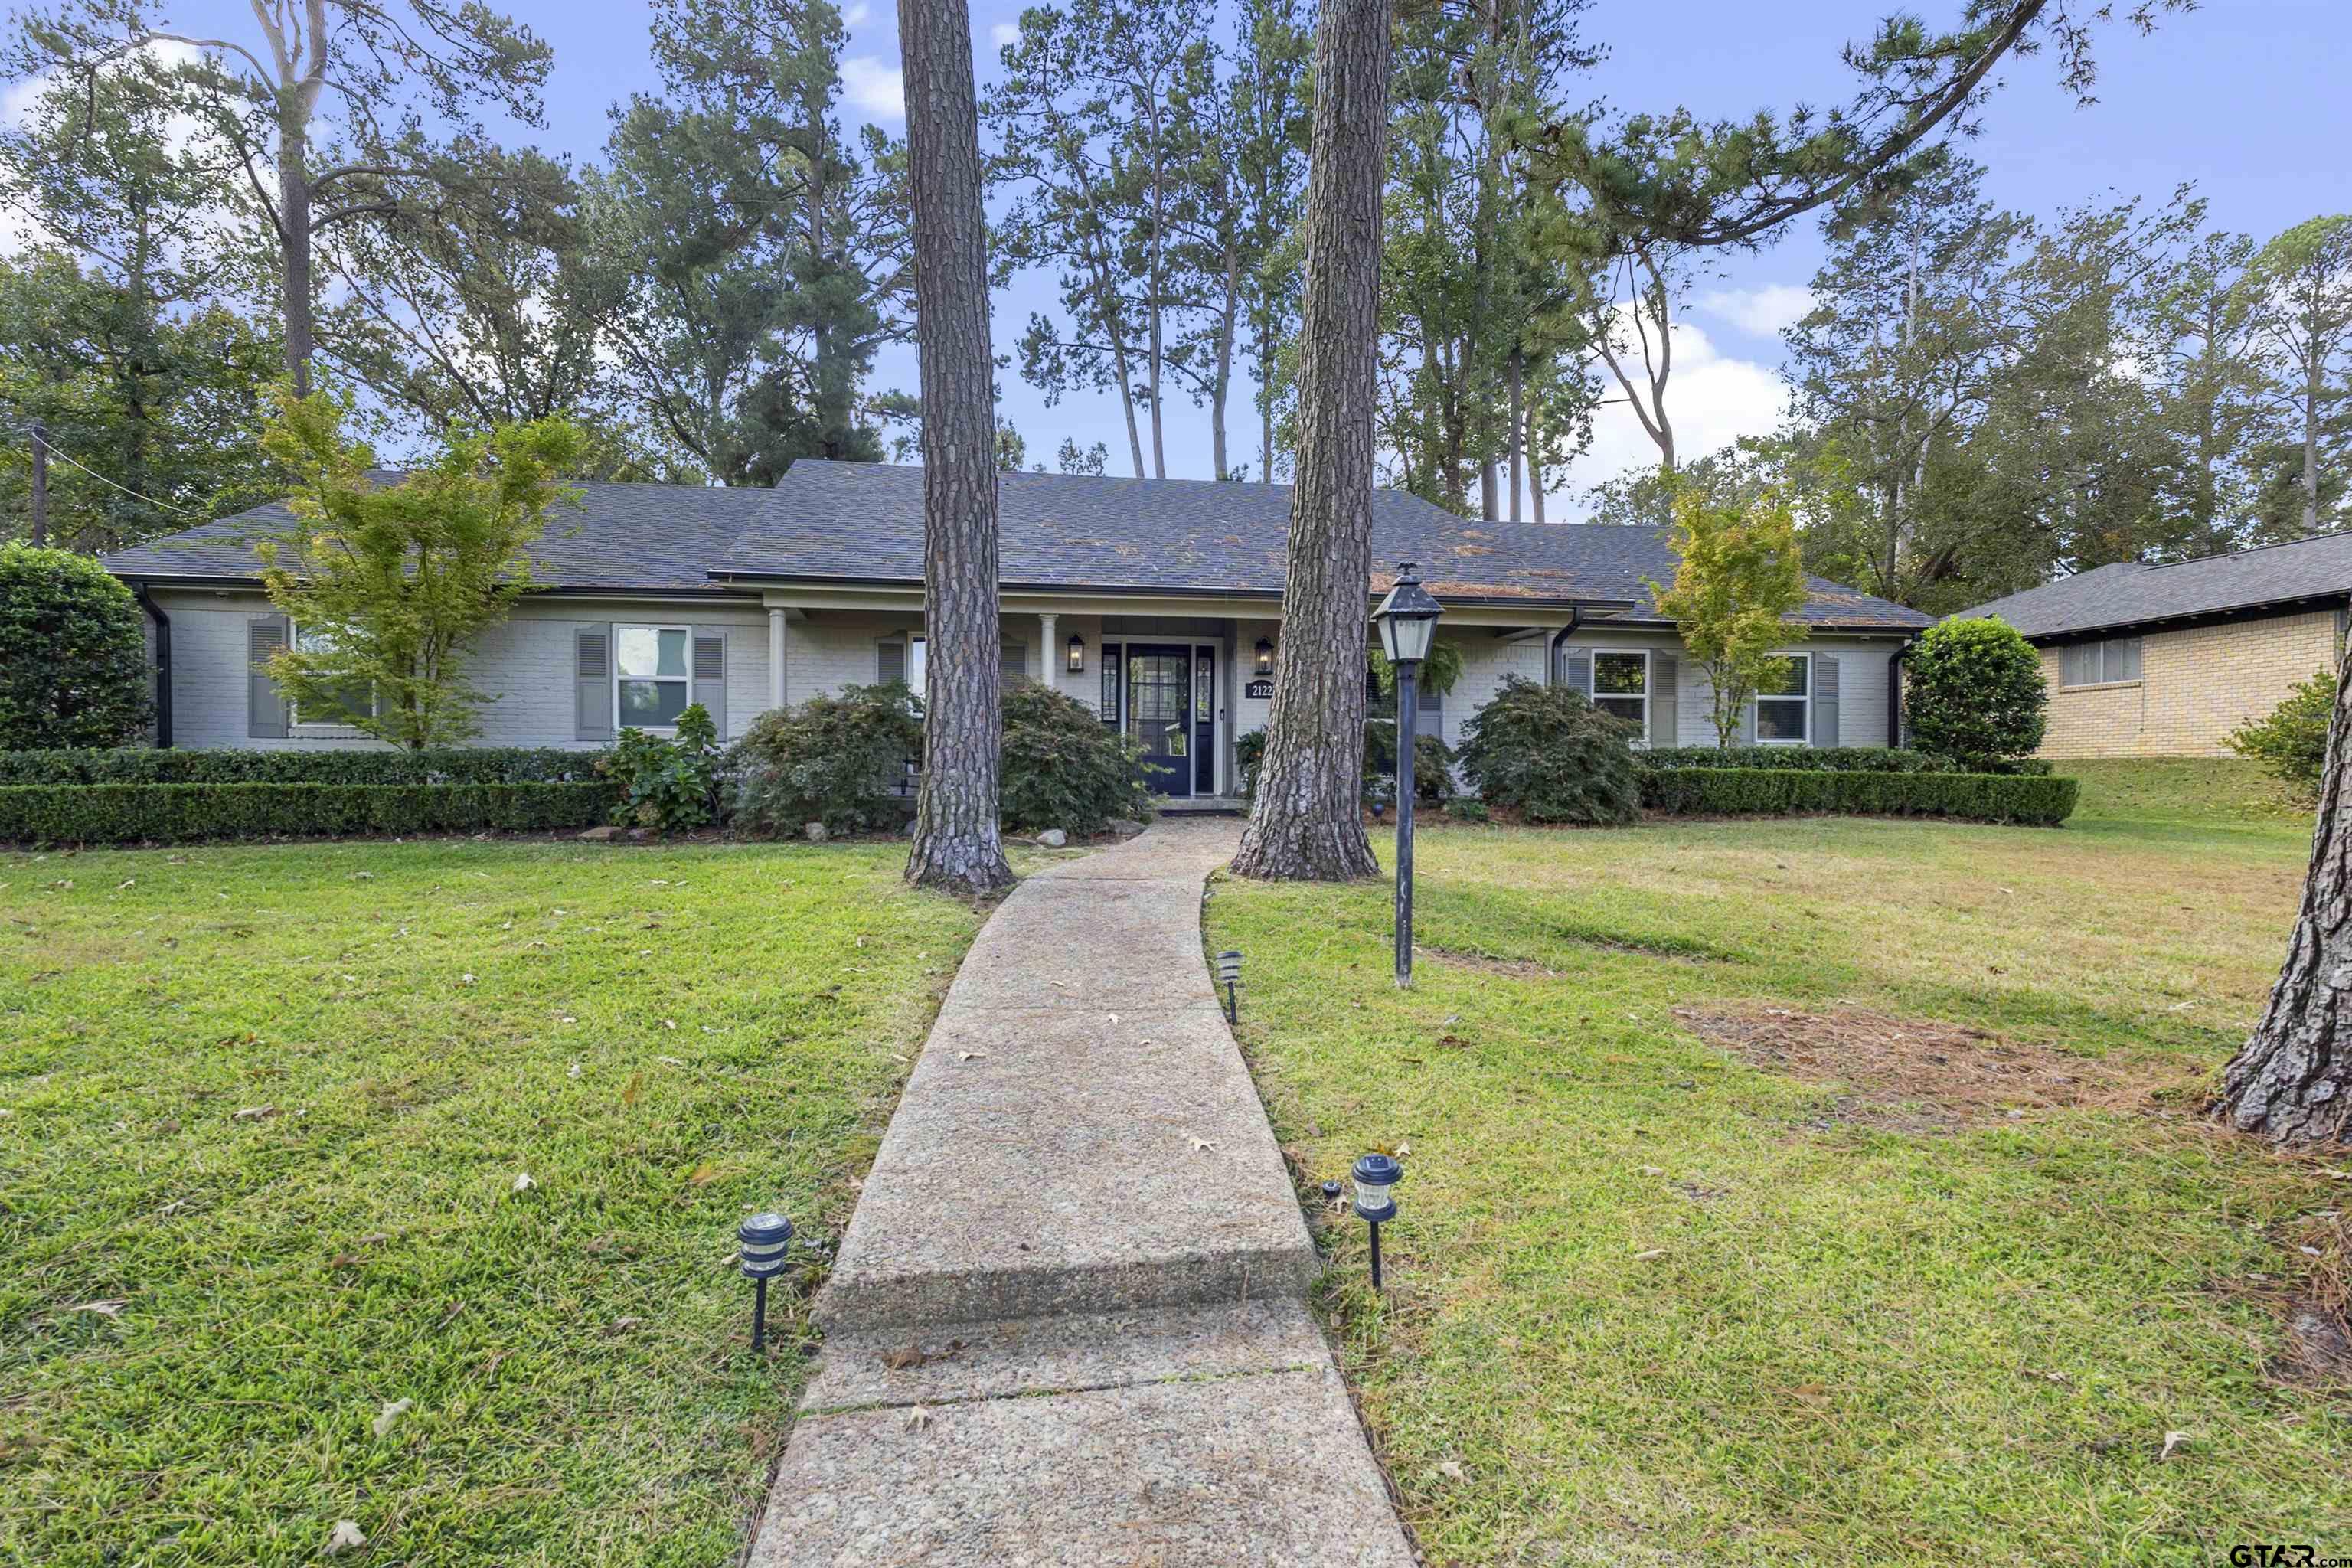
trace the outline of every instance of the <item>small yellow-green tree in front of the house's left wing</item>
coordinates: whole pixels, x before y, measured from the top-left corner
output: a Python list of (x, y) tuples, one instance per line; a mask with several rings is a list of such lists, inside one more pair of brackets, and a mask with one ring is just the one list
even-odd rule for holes
[(261, 447), (292, 477), (299, 527), (261, 536), (261, 581), (294, 623), (270, 679), (296, 710), (423, 750), (480, 731), (492, 693), (466, 679), (470, 644), (532, 588), (532, 543), (586, 447), (579, 425), (541, 418), (449, 425), (395, 484), (343, 435), (332, 393), (268, 393)]

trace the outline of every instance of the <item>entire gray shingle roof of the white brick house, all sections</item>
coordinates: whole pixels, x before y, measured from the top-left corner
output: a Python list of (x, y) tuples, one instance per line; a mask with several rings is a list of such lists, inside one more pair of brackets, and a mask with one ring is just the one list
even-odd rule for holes
[[(555, 590), (755, 592), (764, 583), (920, 585), (922, 470), (802, 458), (776, 489), (583, 484), (534, 548)], [(1284, 484), (1007, 473), (997, 487), (1000, 581), (1025, 590), (1279, 597), (1289, 550)], [(263, 505), (106, 557), (115, 576), (254, 581), (252, 541), (294, 527)], [(1649, 581), (1672, 581), (1661, 529), (1475, 522), (1404, 491), (1374, 491), (1374, 578), (1416, 562), (1439, 599), (1581, 607), (1646, 621)], [(1809, 578), (1799, 621), (1915, 630), (1926, 616)]]

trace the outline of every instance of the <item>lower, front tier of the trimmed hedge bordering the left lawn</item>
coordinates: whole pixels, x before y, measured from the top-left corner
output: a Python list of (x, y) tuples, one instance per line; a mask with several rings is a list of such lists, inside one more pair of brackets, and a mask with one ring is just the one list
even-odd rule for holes
[(5, 785), (0, 842), (174, 844), (358, 832), (543, 832), (612, 818), (612, 783)]

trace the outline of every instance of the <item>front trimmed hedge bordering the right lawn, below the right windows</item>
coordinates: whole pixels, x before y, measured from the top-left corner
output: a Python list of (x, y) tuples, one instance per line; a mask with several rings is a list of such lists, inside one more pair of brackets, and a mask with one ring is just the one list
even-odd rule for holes
[(1642, 804), (1670, 816), (1952, 816), (1971, 823), (2056, 827), (2074, 813), (2072, 778), (2018, 773), (1842, 773), (1830, 769), (1656, 769)]

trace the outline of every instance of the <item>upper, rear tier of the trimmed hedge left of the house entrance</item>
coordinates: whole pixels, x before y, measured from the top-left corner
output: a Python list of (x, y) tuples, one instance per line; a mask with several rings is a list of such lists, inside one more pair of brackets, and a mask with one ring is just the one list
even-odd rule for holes
[(553, 745), (482, 745), (428, 752), (148, 748), (0, 752), (0, 785), (522, 785), (588, 783), (602, 752)]

